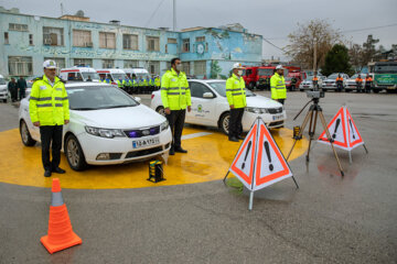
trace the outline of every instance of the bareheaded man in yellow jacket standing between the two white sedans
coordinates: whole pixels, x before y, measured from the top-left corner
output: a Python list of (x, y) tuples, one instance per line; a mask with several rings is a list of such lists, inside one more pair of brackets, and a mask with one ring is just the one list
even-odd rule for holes
[(172, 131), (170, 155), (174, 155), (175, 152), (187, 153), (181, 146), (181, 136), (186, 108), (190, 112), (192, 100), (186, 75), (182, 72), (180, 58), (171, 59), (171, 69), (167, 70), (161, 79), (161, 101)]

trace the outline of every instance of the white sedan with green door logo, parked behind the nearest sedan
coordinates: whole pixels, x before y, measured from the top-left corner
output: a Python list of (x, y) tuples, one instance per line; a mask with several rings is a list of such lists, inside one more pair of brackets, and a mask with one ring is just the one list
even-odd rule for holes
[[(229, 106), (226, 99), (225, 80), (189, 80), (192, 95), (192, 111), (186, 112), (185, 122), (221, 128), (228, 133)], [(247, 107), (243, 116), (243, 130), (249, 131), (255, 119), (262, 118), (268, 128), (279, 128), (287, 119), (281, 103), (257, 96), (246, 89)], [(152, 92), (150, 107), (164, 114), (160, 91)]]

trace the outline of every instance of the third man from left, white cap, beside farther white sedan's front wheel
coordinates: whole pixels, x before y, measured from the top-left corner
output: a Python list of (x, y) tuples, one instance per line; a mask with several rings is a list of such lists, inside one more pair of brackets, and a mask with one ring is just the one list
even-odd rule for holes
[(226, 97), (230, 108), (228, 140), (233, 142), (243, 139), (240, 136), (243, 133), (242, 120), (247, 106), (243, 69), (242, 64), (234, 64), (233, 74), (226, 81)]

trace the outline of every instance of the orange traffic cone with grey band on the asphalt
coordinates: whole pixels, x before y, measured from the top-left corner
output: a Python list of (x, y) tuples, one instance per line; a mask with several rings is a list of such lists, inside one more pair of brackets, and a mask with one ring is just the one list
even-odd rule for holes
[(82, 244), (82, 239), (73, 232), (66, 205), (62, 198), (58, 178), (53, 179), (49, 234), (41, 238), (40, 241), (51, 254)]

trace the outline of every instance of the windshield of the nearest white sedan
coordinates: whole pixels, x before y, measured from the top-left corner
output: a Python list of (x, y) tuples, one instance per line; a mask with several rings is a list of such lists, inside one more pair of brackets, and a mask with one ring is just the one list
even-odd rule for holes
[(72, 110), (136, 107), (139, 103), (111, 86), (81, 86), (66, 89)]

